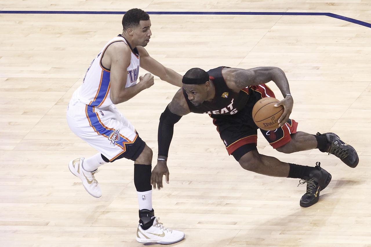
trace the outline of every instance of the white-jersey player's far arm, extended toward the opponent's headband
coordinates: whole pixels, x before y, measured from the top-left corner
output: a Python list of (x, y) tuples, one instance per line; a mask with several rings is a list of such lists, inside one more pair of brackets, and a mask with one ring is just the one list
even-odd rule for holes
[(160, 77), (160, 79), (164, 80), (165, 82), (168, 82), (180, 88), (182, 87), (183, 76), (157, 62), (148, 54), (144, 47), (137, 46), (137, 49), (140, 55), (140, 66), (143, 69), (147, 70), (153, 75)]

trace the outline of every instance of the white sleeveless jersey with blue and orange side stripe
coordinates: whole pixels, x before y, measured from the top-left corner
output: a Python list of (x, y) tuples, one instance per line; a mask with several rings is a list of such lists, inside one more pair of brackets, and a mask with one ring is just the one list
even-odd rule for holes
[[(88, 70), (86, 71), (82, 85), (73, 93), (73, 98), (75, 98), (77, 101), (95, 107), (106, 107), (113, 104), (109, 98), (110, 70), (102, 65), (102, 57), (107, 47), (115, 42), (125, 42), (125, 44), (127, 44), (131, 49), (127, 40), (121, 36), (121, 34), (106, 43), (98, 56), (96, 56), (91, 62)], [(131, 61), (127, 71), (128, 77), (125, 88), (137, 84), (139, 73), (139, 53), (136, 48), (134, 50), (131, 49)]]

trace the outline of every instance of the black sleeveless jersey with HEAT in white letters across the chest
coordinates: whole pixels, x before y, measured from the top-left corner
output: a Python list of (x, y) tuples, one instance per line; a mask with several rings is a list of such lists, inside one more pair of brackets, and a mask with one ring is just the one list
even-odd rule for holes
[(221, 75), (223, 68), (223, 66), (217, 67), (207, 72), (215, 87), (215, 96), (212, 102), (204, 101), (200, 106), (195, 106), (189, 101), (187, 93), (183, 89), (184, 98), (191, 112), (233, 115), (244, 108), (249, 99), (249, 87), (240, 90), (238, 93), (228, 88), (223, 75)]

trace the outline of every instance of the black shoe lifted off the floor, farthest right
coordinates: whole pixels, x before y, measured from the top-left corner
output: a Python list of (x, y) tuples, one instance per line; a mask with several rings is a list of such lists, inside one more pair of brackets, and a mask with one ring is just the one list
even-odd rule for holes
[(320, 134), (319, 132), (317, 132), (317, 135), (325, 135), (328, 141), (328, 146), (326, 146), (326, 149), (319, 149), (319, 151), (324, 153), (328, 152), (328, 154), (335, 155), (349, 167), (354, 168), (358, 165), (359, 158), (357, 152), (351, 145), (343, 142), (338, 135), (334, 133)]

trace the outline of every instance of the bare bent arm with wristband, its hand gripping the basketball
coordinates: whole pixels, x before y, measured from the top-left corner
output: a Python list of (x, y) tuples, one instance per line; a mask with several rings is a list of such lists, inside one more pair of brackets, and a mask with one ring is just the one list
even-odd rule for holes
[(223, 69), (223, 77), (229, 88), (241, 90), (249, 86), (261, 85), (270, 82), (276, 83), (283, 95), (283, 100), (275, 106), (280, 105), (285, 108), (281, 117), (278, 119), (279, 126), (282, 126), (289, 119), (293, 107), (293, 99), (290, 94), (289, 82), (285, 73), (278, 67), (256, 67), (253, 69)]

